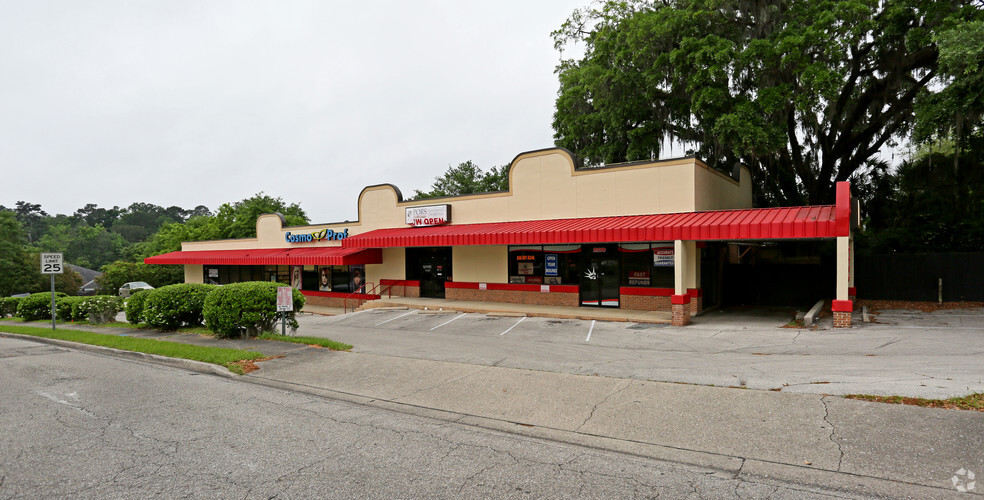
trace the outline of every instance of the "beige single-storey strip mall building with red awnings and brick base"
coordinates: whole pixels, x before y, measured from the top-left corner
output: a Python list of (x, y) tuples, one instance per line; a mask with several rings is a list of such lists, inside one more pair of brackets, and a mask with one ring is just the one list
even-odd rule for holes
[[(570, 152), (518, 155), (507, 191), (405, 201), (390, 184), (359, 194), (355, 222), (285, 227), (255, 238), (185, 242), (148, 264), (183, 264), (189, 283), (279, 281), (310, 304), (386, 295), (672, 312), (675, 325), (720, 303), (721, 264), (742, 245), (834, 239), (835, 326), (853, 309), (852, 201), (751, 208), (747, 169), (694, 157), (575, 167)], [(820, 298), (820, 297), (817, 297)]]

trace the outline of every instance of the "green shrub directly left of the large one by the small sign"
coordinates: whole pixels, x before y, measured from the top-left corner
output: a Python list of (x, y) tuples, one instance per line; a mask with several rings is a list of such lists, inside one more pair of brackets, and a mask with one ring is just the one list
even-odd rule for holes
[(164, 330), (177, 330), (181, 325), (202, 324), (202, 308), (205, 297), (215, 285), (179, 283), (160, 287), (143, 303), (141, 318), (148, 325)]

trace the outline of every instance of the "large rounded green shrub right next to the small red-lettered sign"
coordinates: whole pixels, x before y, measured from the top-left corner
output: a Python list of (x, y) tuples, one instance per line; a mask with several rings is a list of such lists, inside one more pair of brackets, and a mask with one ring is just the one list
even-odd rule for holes
[[(279, 283), (247, 281), (216, 287), (205, 298), (205, 326), (223, 337), (238, 337), (244, 332), (256, 336), (275, 329)], [(294, 313), (304, 306), (304, 295), (294, 290), (294, 312), (287, 313), (291, 329), (297, 329)]]

